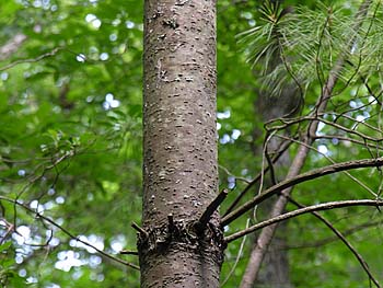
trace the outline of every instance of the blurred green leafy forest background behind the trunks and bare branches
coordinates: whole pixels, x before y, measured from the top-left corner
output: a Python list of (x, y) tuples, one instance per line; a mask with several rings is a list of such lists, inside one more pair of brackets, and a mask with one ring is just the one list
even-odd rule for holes
[[(328, 111), (316, 115), (316, 138), (302, 172), (349, 161), (357, 168), (361, 159), (378, 163), (380, 3), (372, 1), (356, 28), (361, 1), (283, 1), (278, 9), (269, 3), (269, 10), (258, 1), (218, 1), (219, 175), (220, 191), (230, 191), (222, 214), (244, 189), (242, 203), (283, 178), (339, 59), (343, 70), (336, 73)], [(272, 12), (277, 18), (268, 18)], [(141, 1), (132, 0), (0, 3), (4, 287), (139, 287), (139, 273), (127, 265), (138, 265), (137, 256), (120, 252), (136, 250), (130, 224), (141, 219), (142, 15)], [(272, 162), (268, 149), (283, 140), (289, 150), (282, 161), (271, 174), (259, 174)], [(287, 221), (256, 287), (382, 281), (381, 189), (379, 168), (300, 183), (293, 197), (305, 206), (368, 199), (376, 207), (321, 214), (347, 237), (351, 252), (312, 215)], [(265, 219), (270, 206), (267, 201), (246, 212), (225, 228), (225, 235)], [(289, 204), (287, 210), (293, 209)], [(254, 240), (248, 234), (229, 244), (222, 287), (243, 280)]]

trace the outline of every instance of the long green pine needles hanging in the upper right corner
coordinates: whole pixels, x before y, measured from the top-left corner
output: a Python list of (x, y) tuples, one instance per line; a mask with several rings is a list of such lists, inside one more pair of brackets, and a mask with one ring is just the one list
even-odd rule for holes
[(258, 22), (239, 39), (263, 87), (274, 95), (293, 84), (303, 96), (310, 85), (323, 85), (340, 59), (346, 65), (338, 78), (345, 85), (372, 74), (382, 79), (381, 1), (362, 19), (350, 13), (350, 8), (336, 4), (293, 9), (279, 1), (264, 1)]

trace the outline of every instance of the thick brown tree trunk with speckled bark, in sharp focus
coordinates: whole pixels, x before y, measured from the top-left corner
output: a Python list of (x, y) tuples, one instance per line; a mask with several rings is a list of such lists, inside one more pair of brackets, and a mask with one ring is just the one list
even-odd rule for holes
[(146, 0), (141, 287), (219, 287), (216, 1)]

